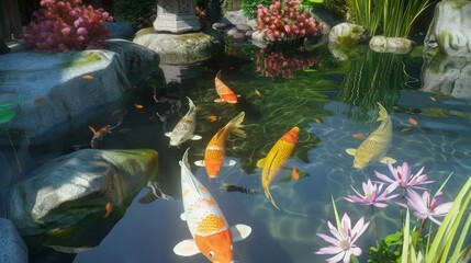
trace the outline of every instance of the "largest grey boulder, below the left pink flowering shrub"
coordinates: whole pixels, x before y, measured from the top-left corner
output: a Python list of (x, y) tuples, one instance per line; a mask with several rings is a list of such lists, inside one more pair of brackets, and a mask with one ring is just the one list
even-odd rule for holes
[(30, 99), (14, 107), (10, 130), (34, 138), (66, 119), (116, 101), (154, 70), (158, 56), (126, 41), (110, 50), (61, 54), (14, 50), (0, 57), (0, 103)]

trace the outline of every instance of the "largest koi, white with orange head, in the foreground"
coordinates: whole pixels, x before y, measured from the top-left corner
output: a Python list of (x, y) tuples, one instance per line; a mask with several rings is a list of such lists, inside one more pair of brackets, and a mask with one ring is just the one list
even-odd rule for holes
[(214, 197), (191, 172), (188, 151), (180, 161), (184, 208), (181, 219), (187, 221), (192, 239), (179, 242), (173, 252), (182, 256), (203, 253), (211, 262), (232, 263), (233, 242), (246, 239), (251, 228), (228, 226)]

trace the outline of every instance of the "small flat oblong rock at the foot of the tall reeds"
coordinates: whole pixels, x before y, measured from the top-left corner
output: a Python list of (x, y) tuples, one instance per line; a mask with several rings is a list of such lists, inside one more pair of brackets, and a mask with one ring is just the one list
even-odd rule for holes
[(377, 53), (407, 54), (414, 42), (403, 37), (373, 36), (369, 45)]

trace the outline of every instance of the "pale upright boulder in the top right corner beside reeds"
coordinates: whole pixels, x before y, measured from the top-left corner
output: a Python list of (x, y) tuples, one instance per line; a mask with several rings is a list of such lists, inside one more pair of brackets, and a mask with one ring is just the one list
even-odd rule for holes
[(449, 56), (471, 54), (471, 1), (444, 0), (435, 7), (424, 46)]

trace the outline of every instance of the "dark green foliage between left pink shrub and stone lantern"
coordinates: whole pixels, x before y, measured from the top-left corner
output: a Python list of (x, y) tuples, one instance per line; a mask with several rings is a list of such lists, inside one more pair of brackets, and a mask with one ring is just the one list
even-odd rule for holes
[(117, 22), (137, 26), (143, 20), (155, 15), (156, 0), (117, 0), (113, 4), (113, 16)]

